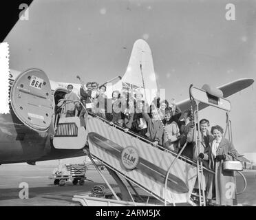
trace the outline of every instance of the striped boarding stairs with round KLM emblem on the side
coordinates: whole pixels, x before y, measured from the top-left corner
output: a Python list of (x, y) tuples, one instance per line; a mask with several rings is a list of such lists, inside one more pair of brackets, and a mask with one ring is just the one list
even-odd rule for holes
[[(86, 129), (78, 117), (60, 120), (54, 147), (84, 148), (88, 144), (90, 157), (98, 159), (164, 205), (191, 204), (198, 175), (196, 162), (180, 155), (181, 152), (153, 146), (145, 137), (132, 131), (125, 132), (122, 126), (111, 124), (93, 113), (85, 113), (85, 124)], [(71, 131), (70, 127), (73, 128)]]

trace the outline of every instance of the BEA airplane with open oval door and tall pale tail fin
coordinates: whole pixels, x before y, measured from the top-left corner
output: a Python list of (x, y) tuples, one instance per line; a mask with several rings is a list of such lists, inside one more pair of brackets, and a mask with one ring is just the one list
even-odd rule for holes
[[(145, 53), (145, 48), (149, 53)], [(120, 83), (123, 82), (130, 83), (129, 85), (141, 84), (138, 79), (132, 77), (132, 75), (138, 76), (138, 71), (141, 69), (144, 74), (154, 72), (149, 46), (145, 41), (138, 40), (134, 43), (125, 75), (113, 87), (120, 87)], [(143, 81), (144, 85), (151, 83), (151, 87), (157, 87), (155, 78), (153, 80), (152, 77), (146, 78), (149, 80)], [(43, 83), (40, 89), (32, 86), (33, 79)], [(134, 81), (131, 82), (131, 79)], [(68, 131), (64, 132), (67, 136), (55, 133), (54, 107), (67, 93), (66, 87), (70, 83), (49, 80), (40, 69), (28, 69), (22, 73), (11, 70), (9, 81), (10, 113), (0, 114), (0, 164), (27, 162), (34, 165), (39, 161), (85, 155), (83, 148), (87, 144), (86, 133), (78, 117), (64, 119), (67, 124), (73, 123), (74, 127), (78, 127), (77, 137), (72, 137), (72, 134), (68, 137)], [(222, 90), (226, 98), (249, 87), (253, 82), (252, 78), (242, 78), (222, 85), (218, 89)], [(39, 86), (39, 84), (35, 85)], [(78, 94), (81, 84), (73, 83), (72, 85), (74, 85), (74, 92)], [(190, 100), (178, 102), (177, 106), (182, 111), (189, 109)], [(205, 107), (205, 104), (200, 105), (200, 109)], [(70, 126), (70, 129), (73, 127)]]

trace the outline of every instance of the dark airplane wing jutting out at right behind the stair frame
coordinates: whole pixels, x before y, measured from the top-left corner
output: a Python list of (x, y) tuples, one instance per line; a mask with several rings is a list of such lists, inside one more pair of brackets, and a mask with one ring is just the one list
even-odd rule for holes
[[(231, 96), (238, 91), (241, 91), (243, 89), (246, 89), (250, 85), (254, 83), (254, 80), (252, 78), (241, 78), (239, 80), (235, 80), (231, 83), (227, 83), (225, 85), (222, 85), (220, 87), (217, 87), (217, 89), (220, 89), (223, 92), (223, 97), (227, 98), (228, 96)], [(180, 107), (181, 111), (184, 111), (186, 109), (189, 109), (191, 107), (191, 102), (188, 99), (183, 100), (181, 102), (177, 103), (177, 106)], [(208, 104), (200, 103), (199, 104), (199, 110), (202, 110), (206, 107), (208, 107)]]

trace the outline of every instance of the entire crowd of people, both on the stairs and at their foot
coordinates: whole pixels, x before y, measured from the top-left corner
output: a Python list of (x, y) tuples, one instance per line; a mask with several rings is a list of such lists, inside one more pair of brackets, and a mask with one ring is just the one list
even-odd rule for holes
[[(98, 83), (87, 83), (87, 89), (81, 87), (81, 101), (92, 112), (110, 124), (118, 124), (127, 131), (147, 137), (154, 146), (160, 145), (178, 153), (184, 146), (182, 155), (190, 159), (200, 160), (206, 168), (215, 170), (215, 175), (204, 170), (204, 189), (206, 197), (216, 199), (216, 204), (234, 205), (235, 179), (233, 171), (223, 170), (222, 164), (226, 160), (237, 159), (237, 151), (233, 144), (223, 137), (221, 126), (212, 126), (209, 132), (209, 120), (200, 120), (200, 146), (196, 148), (195, 127), (191, 110), (182, 112), (171, 100), (160, 101), (157, 96), (151, 104), (142, 100), (140, 92), (131, 94), (127, 90), (113, 91), (112, 97), (105, 95), (106, 87), (98, 87)], [(72, 92), (72, 85), (67, 87), (69, 93), (65, 99), (78, 100)], [(60, 103), (58, 105), (61, 105)], [(79, 106), (67, 104), (66, 117), (74, 116)], [(81, 109), (78, 108), (79, 111)], [(83, 111), (81, 115), (83, 116)]]

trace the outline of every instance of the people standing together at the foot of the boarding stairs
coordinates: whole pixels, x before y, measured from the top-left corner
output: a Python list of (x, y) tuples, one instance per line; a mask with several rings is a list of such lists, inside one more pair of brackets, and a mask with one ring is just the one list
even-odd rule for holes
[[(224, 137), (224, 130), (220, 125), (211, 127), (209, 132), (210, 122), (207, 119), (200, 120), (199, 146), (196, 149), (195, 129), (190, 128), (184, 135), (187, 142), (186, 148), (190, 148), (193, 159), (198, 159), (202, 165), (211, 170), (215, 170), (215, 174), (207, 170), (203, 170), (202, 182), (206, 199), (212, 203), (215, 199), (215, 204), (224, 206), (233, 206), (237, 204), (235, 175), (232, 170), (224, 170), (225, 161), (238, 160), (238, 153), (233, 144)], [(184, 141), (184, 140), (183, 140)], [(196, 184), (198, 188), (198, 183)]]

